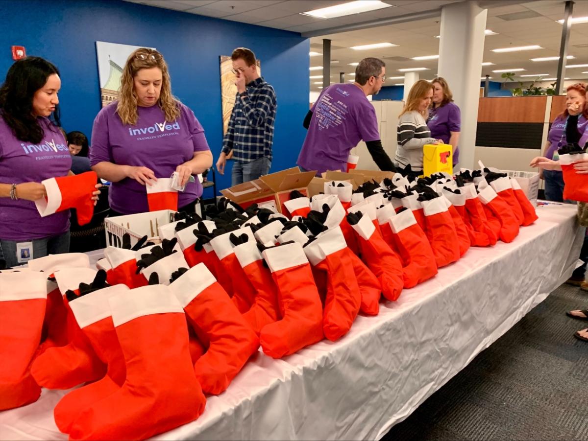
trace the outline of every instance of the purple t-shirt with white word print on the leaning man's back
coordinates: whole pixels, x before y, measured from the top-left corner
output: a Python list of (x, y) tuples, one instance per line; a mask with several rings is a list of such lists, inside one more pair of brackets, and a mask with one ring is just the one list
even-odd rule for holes
[(306, 170), (346, 171), (350, 150), (361, 140), (377, 141), (376, 111), (354, 84), (334, 84), (312, 106), (312, 119), (298, 165)]

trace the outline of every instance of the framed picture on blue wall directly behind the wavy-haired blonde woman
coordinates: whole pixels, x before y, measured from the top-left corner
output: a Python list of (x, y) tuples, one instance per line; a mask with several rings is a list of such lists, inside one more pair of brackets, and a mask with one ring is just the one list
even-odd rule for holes
[[(148, 46), (119, 45), (118, 43), (96, 42), (96, 58), (98, 58), (98, 78), (102, 107), (108, 106), (118, 98), (121, 86), (122, 69), (126, 59), (133, 51)], [(155, 48), (149, 48), (154, 49)]]

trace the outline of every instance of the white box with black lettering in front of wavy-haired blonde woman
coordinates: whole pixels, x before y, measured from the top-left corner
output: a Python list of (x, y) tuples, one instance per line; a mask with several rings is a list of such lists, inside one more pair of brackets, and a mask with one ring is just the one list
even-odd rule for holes
[(131, 246), (147, 235), (149, 241), (161, 243), (158, 229), (161, 225), (173, 222), (173, 210), (151, 211), (149, 213), (128, 214), (126, 216), (107, 217), (104, 220), (106, 244), (111, 247), (122, 247), (122, 236), (131, 236)]

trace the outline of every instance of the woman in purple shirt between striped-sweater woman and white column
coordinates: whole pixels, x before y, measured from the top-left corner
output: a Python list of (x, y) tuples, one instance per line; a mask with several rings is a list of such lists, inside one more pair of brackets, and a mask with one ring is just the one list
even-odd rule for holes
[(453, 146), (453, 166), (459, 162), (459, 133), (462, 126), (462, 115), (453, 102), (453, 94), (445, 78), (435, 78), (433, 84), (433, 100), (429, 109), (427, 127), (431, 136), (445, 144)]

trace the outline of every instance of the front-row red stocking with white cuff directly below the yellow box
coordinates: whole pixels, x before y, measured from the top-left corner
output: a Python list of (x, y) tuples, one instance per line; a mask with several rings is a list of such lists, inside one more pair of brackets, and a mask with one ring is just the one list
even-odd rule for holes
[(445, 201), (440, 197), (423, 201), (423, 211), (427, 223), (426, 234), (435, 254), (437, 268), (459, 260), (457, 231)]

